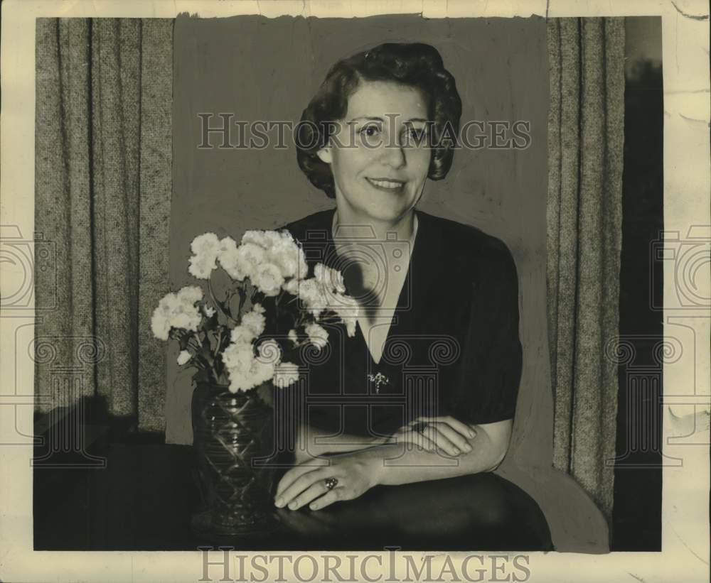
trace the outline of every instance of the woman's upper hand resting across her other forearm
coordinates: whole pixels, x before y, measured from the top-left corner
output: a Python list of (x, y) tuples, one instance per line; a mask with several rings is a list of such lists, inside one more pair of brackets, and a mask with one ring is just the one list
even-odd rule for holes
[(454, 417), (418, 417), (400, 427), (392, 437), (397, 442), (419, 445), (428, 452), (441, 450), (458, 456), (471, 452), (469, 440), (476, 437), (476, 430)]

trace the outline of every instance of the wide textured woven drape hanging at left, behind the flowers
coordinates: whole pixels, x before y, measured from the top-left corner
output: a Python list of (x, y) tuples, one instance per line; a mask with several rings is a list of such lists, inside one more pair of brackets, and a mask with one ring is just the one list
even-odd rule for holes
[(173, 21), (38, 18), (36, 394), (163, 430)]

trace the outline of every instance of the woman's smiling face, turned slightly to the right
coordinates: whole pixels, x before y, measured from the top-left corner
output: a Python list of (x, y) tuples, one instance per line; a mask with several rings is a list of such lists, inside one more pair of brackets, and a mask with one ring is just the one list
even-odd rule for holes
[(331, 165), (339, 205), (378, 221), (415, 207), (429, 170), (426, 131), (427, 103), (418, 89), (360, 82), (331, 145), (319, 151)]

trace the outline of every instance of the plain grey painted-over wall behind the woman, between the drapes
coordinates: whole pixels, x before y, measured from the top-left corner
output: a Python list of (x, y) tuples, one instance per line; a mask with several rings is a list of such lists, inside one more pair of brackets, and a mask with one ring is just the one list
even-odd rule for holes
[[(551, 396), (545, 312), (545, 197), (548, 76), (545, 21), (417, 15), (362, 19), (180, 16), (174, 31), (171, 286), (188, 275), (194, 236), (235, 239), (334, 202), (317, 191), (285, 150), (214, 148), (201, 143), (200, 112), (235, 119), (292, 120), (338, 58), (382, 42), (430, 43), (456, 78), (462, 122), (530, 121), (525, 150), (461, 150), (446, 180), (428, 182), (419, 208), (474, 224), (513, 251), (520, 277), (524, 367), (509, 458), (550, 464)], [(221, 121), (213, 117), (211, 124)], [(220, 136), (213, 135), (215, 146)], [(232, 141), (237, 141), (235, 134)], [(166, 437), (191, 442), (191, 371), (171, 352)], [(509, 459), (507, 459), (507, 463)], [(504, 467), (504, 473), (506, 468)]]

